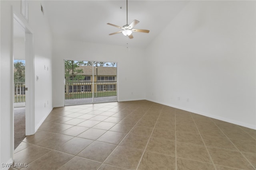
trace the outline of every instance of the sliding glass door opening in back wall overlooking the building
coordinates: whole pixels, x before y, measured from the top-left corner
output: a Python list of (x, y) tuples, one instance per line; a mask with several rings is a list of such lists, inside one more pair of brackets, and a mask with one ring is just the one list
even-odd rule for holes
[(117, 63), (64, 60), (65, 106), (117, 102)]

